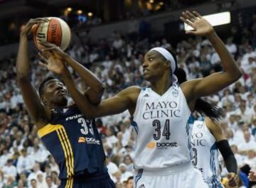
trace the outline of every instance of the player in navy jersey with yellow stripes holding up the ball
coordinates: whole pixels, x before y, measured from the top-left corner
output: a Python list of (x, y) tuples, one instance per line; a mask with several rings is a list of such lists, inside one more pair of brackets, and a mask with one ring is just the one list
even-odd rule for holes
[[(20, 36), (16, 62), (17, 80), (28, 114), (38, 126), (38, 136), (58, 163), (60, 188), (113, 188), (114, 182), (107, 173), (105, 153), (95, 120), (84, 116), (76, 105), (67, 106), (67, 89), (59, 79), (45, 79), (39, 88), (39, 96), (29, 81), (27, 35), (34, 24), (46, 21), (46, 18), (31, 19)], [(102, 83), (64, 52), (60, 51), (59, 55), (90, 87), (85, 95), (79, 92), (80, 96), (88, 98), (94, 104), (99, 103), (104, 90)], [(60, 70), (58, 62), (53, 61), (50, 64), (53, 70)], [(60, 70), (55, 73), (66, 74), (74, 84), (68, 71)], [(78, 91), (75, 87), (73, 89)]]

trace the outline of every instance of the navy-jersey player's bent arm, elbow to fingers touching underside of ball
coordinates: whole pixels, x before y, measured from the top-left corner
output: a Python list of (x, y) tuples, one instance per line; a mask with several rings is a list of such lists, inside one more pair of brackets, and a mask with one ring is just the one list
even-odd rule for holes
[(78, 74), (82, 78), (82, 81), (85, 82), (87, 87), (90, 87), (85, 95), (90, 99), (90, 102), (92, 102), (92, 104), (99, 104), (102, 94), (104, 92), (104, 85), (102, 84), (102, 82), (100, 82), (100, 79), (97, 79), (95, 74), (90, 72), (90, 70), (87, 70), (87, 68), (82, 66), (72, 57), (70, 57), (70, 55), (63, 52), (63, 50), (58, 48), (56, 45), (50, 43), (43, 43), (42, 41), (40, 43), (47, 47), (45, 51), (50, 51), (55, 56), (55, 58), (66, 62), (68, 65), (70, 65), (70, 67), (75, 70), (75, 72), (78, 72)]

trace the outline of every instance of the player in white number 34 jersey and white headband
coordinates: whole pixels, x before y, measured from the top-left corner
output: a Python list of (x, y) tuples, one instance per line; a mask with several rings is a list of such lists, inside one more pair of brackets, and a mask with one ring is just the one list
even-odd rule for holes
[[(127, 109), (133, 116), (137, 133), (134, 158), (137, 188), (208, 187), (201, 172), (191, 164), (191, 112), (201, 96), (215, 94), (242, 75), (208, 21), (188, 11), (182, 13), (181, 20), (194, 28), (186, 33), (208, 38), (220, 56), (223, 72), (180, 85), (175, 56), (165, 48), (152, 48), (144, 55), (142, 65), (144, 78), (151, 87), (128, 87), (99, 105), (90, 104), (74, 89), (74, 83), (65, 79), (68, 91), (87, 118), (119, 114)], [(58, 50), (50, 48), (50, 52), (55, 55)]]

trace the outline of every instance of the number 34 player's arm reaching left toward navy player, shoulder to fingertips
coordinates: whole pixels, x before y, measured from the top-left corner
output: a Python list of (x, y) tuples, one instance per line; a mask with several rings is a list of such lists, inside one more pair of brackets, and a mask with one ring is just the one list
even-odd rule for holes
[(132, 109), (132, 104), (136, 104), (137, 96), (140, 91), (139, 87), (129, 87), (119, 92), (116, 96), (102, 101), (99, 105), (92, 104), (89, 99), (77, 89), (72, 75), (67, 67), (65, 67), (62, 60), (55, 57), (49, 51), (44, 51), (41, 57), (47, 62), (47, 64), (41, 63), (41, 65), (44, 65), (55, 74), (60, 75), (68, 88), (68, 92), (70, 92), (73, 97), (75, 104), (87, 118), (119, 114), (126, 109)]

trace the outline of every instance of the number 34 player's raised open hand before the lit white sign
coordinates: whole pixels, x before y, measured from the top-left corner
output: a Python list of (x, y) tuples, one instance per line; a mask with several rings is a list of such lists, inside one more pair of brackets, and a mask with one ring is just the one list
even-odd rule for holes
[(211, 26), (210, 23), (196, 11), (193, 11), (193, 13), (190, 11), (182, 12), (182, 16), (180, 18), (181, 21), (194, 29), (194, 31), (186, 31), (187, 34), (207, 37), (214, 33), (213, 26)]

